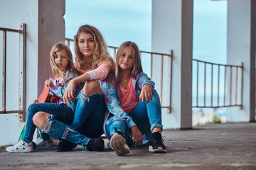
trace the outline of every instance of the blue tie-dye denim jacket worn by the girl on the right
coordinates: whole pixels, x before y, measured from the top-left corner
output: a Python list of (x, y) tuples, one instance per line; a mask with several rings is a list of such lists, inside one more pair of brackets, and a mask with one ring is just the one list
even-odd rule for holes
[[(119, 106), (119, 101), (115, 91), (116, 89), (114, 87), (114, 77), (109, 74), (107, 79), (101, 83), (102, 93), (104, 94), (105, 103), (108, 109), (105, 115), (104, 131), (105, 123), (107, 122), (107, 118), (109, 118), (110, 113), (124, 120), (127, 123), (128, 128), (136, 125), (128, 113), (125, 113), (124, 110)], [(142, 86), (144, 86), (144, 84), (149, 84), (151, 89), (154, 89), (154, 81), (151, 81), (144, 72), (135, 72), (134, 75), (132, 75), (132, 85), (134, 86), (137, 96), (139, 96), (140, 92), (142, 91)]]

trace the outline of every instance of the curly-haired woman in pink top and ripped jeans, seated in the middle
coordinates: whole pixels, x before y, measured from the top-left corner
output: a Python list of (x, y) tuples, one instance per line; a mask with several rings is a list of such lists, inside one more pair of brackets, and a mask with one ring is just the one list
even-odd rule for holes
[[(107, 52), (107, 45), (100, 30), (89, 25), (80, 26), (74, 37), (75, 68), (82, 72), (79, 77), (72, 79), (63, 96), (64, 102), (73, 101), (75, 84), (84, 86), (78, 96), (73, 123), (70, 127), (87, 137), (100, 137), (103, 134), (105, 118), (105, 101), (99, 84), (114, 66), (114, 61)], [(89, 142), (90, 138), (86, 141)], [(97, 145), (102, 145), (98, 141)], [(58, 143), (57, 151), (70, 151), (76, 145), (66, 140)]]

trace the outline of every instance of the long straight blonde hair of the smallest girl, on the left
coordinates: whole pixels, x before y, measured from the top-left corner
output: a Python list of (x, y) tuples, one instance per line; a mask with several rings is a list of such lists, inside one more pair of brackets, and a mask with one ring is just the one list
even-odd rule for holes
[[(68, 65), (67, 65), (67, 67), (65, 67), (65, 72), (61, 72), (60, 69), (58, 69), (58, 66), (54, 61), (56, 52), (58, 52), (59, 50), (65, 50), (65, 52), (68, 55), (67, 56), (68, 57)], [(55, 45), (53, 45), (53, 47), (50, 51), (50, 67), (52, 70), (52, 79), (55, 79), (56, 77), (61, 77), (61, 78), (65, 79), (65, 73), (68, 71), (72, 72), (75, 75), (80, 75), (78, 70), (76, 70), (74, 67), (73, 55), (70, 51), (70, 48), (68, 47), (68, 45), (65, 45), (62, 42), (58, 42)]]

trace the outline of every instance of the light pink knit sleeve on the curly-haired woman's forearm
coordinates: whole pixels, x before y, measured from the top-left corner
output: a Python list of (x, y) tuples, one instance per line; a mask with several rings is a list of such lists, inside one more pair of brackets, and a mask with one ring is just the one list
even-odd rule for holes
[(91, 80), (104, 80), (107, 77), (107, 74), (110, 72), (111, 68), (111, 62), (104, 62), (100, 64), (100, 67), (97, 67), (97, 69), (93, 69), (86, 73), (90, 75)]

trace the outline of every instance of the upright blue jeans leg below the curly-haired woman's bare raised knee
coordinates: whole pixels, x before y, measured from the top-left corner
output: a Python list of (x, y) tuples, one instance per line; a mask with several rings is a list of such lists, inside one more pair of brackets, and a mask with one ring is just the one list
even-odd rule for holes
[(87, 96), (81, 91), (70, 127), (87, 137), (100, 137), (103, 134), (105, 112), (106, 106), (102, 94)]

